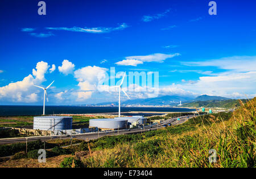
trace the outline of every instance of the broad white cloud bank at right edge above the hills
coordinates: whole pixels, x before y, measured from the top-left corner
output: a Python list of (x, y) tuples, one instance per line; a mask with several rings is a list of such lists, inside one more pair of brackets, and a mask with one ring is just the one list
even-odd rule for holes
[[(256, 72), (222, 73), (218, 76), (200, 77), (197, 81), (177, 84), (177, 88), (190, 90), (196, 94), (219, 95), (223, 97), (254, 97)], [(240, 94), (240, 95), (238, 95)]]

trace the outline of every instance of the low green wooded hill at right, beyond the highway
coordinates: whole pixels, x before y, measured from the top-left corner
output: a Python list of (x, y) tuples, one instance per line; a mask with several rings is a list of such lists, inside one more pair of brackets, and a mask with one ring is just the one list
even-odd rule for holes
[[(246, 99), (242, 99), (242, 102), (246, 102)], [(209, 100), (209, 101), (195, 101), (190, 103), (184, 103), (183, 107), (220, 107), (226, 109), (233, 109), (240, 107), (240, 102), (237, 99), (228, 100)]]

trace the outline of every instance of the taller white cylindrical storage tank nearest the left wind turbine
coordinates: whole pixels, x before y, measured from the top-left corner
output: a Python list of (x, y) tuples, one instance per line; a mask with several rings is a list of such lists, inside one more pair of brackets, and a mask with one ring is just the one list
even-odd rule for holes
[(70, 116), (36, 116), (34, 117), (34, 130), (62, 131), (72, 129)]

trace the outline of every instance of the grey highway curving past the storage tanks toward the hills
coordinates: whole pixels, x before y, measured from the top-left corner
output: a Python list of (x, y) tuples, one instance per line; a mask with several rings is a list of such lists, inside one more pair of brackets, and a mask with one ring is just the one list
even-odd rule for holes
[[(193, 118), (194, 115), (190, 115), (189, 118)], [(177, 118), (180, 118), (180, 120), (177, 120)], [(165, 126), (168, 126), (168, 124), (172, 124), (172, 126), (175, 126), (177, 124), (181, 124), (185, 122), (187, 119), (187, 116), (180, 116), (175, 117), (171, 119), (164, 120), (164, 122), (160, 124), (154, 124), (151, 126), (145, 126), (142, 128), (134, 128), (134, 129), (125, 129), (125, 130), (115, 130), (115, 131), (100, 131), (100, 132), (87, 132), (84, 134), (73, 134), (73, 135), (55, 135), (55, 136), (32, 136), (27, 138), (7, 138), (7, 139), (0, 139), (0, 144), (13, 144), (13, 143), (24, 143), (26, 141), (35, 141), (35, 140), (51, 140), (51, 139), (82, 139), (82, 140), (92, 140), (92, 139), (98, 139), (103, 136), (114, 136), (114, 135), (125, 135), (125, 134), (138, 134), (145, 131), (151, 131), (151, 130), (158, 130), (159, 128), (163, 128)]]

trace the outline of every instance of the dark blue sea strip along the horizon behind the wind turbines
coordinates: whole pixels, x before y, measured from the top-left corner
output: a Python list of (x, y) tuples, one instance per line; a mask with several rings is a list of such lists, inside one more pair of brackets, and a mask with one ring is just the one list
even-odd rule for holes
[[(195, 109), (177, 107), (121, 107), (123, 115), (161, 115), (160, 113), (127, 113), (130, 111), (155, 111), (155, 112), (190, 112)], [(118, 107), (88, 107), (88, 106), (46, 106), (46, 115), (52, 114), (117, 114)], [(42, 115), (43, 106), (0, 106), (0, 116)], [(164, 113), (162, 113), (164, 114)]]

